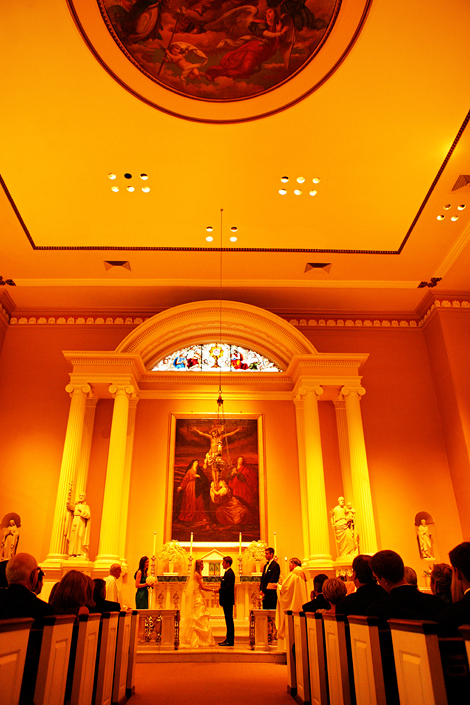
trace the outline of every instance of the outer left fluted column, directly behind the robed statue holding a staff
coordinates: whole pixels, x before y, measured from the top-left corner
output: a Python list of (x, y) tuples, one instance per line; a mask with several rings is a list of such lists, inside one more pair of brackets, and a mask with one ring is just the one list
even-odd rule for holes
[(88, 395), (91, 393), (89, 384), (68, 384), (65, 391), (70, 394), (70, 410), (65, 433), (64, 452), (60, 466), (57, 498), (52, 522), (52, 535), (49, 555), (46, 562), (50, 565), (59, 562), (67, 556), (65, 534), (68, 519), (67, 496), (70, 486), (76, 482), (80, 462), (83, 438), (83, 422)]

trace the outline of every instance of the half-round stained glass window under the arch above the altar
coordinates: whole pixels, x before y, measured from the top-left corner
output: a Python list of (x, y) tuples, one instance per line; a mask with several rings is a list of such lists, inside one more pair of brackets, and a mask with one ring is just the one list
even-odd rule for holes
[(167, 355), (152, 367), (152, 372), (281, 372), (271, 360), (254, 350), (227, 343), (191, 345)]

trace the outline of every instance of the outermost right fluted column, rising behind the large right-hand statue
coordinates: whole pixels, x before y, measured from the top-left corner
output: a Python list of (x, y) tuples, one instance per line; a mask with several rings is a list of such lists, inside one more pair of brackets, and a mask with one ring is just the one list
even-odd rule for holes
[(341, 393), (346, 405), (351, 482), (356, 503), (354, 508), (360, 550), (361, 553), (375, 553), (377, 551), (377, 536), (360, 407), (360, 398), (366, 393), (366, 390), (363, 387), (343, 387)]

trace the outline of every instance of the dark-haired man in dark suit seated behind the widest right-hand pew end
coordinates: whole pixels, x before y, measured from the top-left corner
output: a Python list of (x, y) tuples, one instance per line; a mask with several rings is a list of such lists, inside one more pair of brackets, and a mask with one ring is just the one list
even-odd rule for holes
[(435, 621), (443, 603), (434, 595), (426, 595), (405, 580), (403, 560), (395, 551), (379, 551), (372, 556), (372, 572), (388, 595), (373, 602), (366, 615), (380, 619), (429, 619)]

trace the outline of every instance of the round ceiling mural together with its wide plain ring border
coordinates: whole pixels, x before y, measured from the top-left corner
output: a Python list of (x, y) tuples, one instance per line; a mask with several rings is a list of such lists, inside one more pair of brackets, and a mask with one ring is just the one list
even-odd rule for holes
[(239, 122), (285, 109), (318, 88), (353, 45), (370, 1), (69, 0), (69, 6), (102, 65), (139, 98), (183, 118)]

